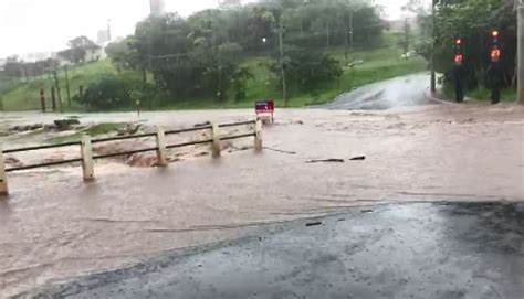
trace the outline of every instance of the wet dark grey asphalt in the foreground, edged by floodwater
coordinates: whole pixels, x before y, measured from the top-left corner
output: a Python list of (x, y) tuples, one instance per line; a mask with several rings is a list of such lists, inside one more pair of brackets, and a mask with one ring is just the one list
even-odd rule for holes
[(524, 298), (524, 203), (405, 203), (263, 227), (36, 298)]

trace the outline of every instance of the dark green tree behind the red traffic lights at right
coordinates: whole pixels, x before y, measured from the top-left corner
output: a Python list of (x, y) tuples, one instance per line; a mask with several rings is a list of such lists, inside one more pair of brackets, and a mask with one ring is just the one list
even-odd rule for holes
[[(490, 65), (490, 32), (501, 31), (502, 65), (506, 85), (515, 72), (516, 19), (512, 3), (505, 0), (446, 0), (436, 11), (434, 67), (444, 74), (444, 82), (452, 83), (454, 36), (462, 39), (464, 53), (463, 78), (467, 88), (485, 86), (485, 72)], [(418, 51), (427, 60), (431, 54), (431, 15), (421, 17), (425, 42)]]

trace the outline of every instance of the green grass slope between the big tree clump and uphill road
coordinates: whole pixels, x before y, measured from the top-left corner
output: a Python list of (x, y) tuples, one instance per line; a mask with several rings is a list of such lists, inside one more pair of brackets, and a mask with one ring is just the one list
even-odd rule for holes
[[(427, 63), (421, 57), (411, 57), (409, 60), (400, 58), (402, 51), (396, 47), (382, 47), (378, 50), (355, 51), (349, 55), (348, 61), (363, 60), (364, 64), (355, 67), (346, 66), (344, 49), (335, 49), (329, 54), (337, 58), (344, 67), (344, 74), (339, 82), (332, 82), (321, 86), (311, 93), (297, 93), (289, 90), (289, 106), (302, 107), (306, 105), (317, 105), (333, 100), (340, 93), (350, 90), (354, 87), (365, 84), (379, 82), (396, 76), (402, 76), (411, 73), (422, 72)], [(268, 57), (251, 57), (243, 64), (249, 66), (255, 75), (254, 81), (248, 84), (247, 100), (234, 102), (229, 98), (226, 103), (216, 104), (212, 98), (188, 99), (178, 103), (168, 104), (160, 108), (164, 109), (188, 109), (188, 108), (208, 108), (226, 107), (242, 108), (252, 107), (256, 99), (273, 98), (279, 106), (283, 105), (282, 90), (276, 86), (276, 78), (265, 66), (270, 62)]]

